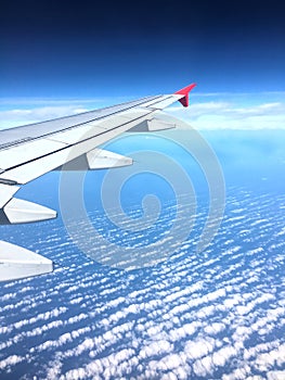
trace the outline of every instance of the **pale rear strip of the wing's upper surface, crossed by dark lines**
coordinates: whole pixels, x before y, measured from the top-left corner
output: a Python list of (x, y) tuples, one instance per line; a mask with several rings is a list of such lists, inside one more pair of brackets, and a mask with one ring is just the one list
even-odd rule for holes
[(153, 113), (147, 107), (131, 107), (95, 122), (2, 149), (0, 183), (27, 183), (131, 129)]

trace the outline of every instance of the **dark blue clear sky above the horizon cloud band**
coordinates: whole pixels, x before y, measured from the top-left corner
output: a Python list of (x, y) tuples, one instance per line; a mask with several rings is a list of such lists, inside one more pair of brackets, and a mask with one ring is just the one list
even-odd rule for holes
[(5, 1), (0, 97), (281, 91), (281, 1)]

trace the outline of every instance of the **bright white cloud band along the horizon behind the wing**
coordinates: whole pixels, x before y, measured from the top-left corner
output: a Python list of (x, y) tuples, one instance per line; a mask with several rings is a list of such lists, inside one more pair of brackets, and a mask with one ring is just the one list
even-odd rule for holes
[[(205, 93), (189, 109), (174, 105), (166, 112), (196, 129), (285, 129), (284, 93)], [(1, 100), (0, 129), (73, 115), (128, 99)], [(255, 104), (252, 104), (255, 101)], [(13, 107), (14, 106), (14, 107)], [(183, 128), (183, 127), (182, 127)], [(186, 126), (184, 127), (186, 128)]]

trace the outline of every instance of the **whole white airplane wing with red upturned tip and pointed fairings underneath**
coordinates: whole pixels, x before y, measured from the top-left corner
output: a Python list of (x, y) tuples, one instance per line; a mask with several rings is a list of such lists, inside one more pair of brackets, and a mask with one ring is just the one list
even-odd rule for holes
[[(56, 212), (14, 198), (18, 189), (54, 169), (99, 169), (131, 165), (132, 160), (101, 150), (125, 131), (157, 131), (176, 125), (159, 119), (159, 111), (180, 101), (189, 105), (192, 84), (174, 93), (55, 118), (0, 131), (0, 225), (56, 217)], [(53, 263), (31, 251), (0, 241), (0, 281), (53, 270)]]

